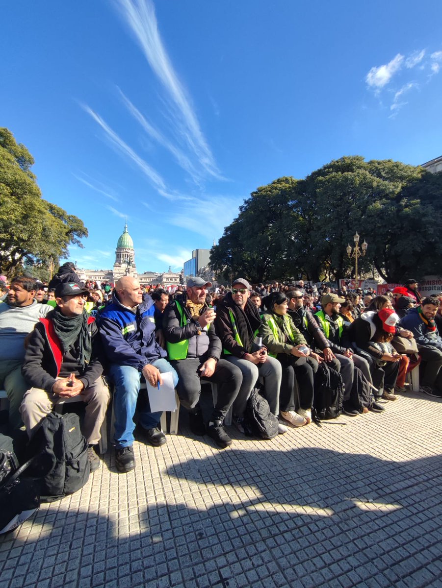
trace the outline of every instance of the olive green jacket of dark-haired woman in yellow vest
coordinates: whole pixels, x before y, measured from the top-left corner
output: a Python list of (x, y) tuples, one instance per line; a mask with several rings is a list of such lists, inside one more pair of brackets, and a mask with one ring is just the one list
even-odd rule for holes
[[(298, 330), (290, 316), (265, 313), (262, 315), (263, 324), (260, 327), (262, 343), (272, 356), (278, 353), (290, 355), (296, 345), (307, 345), (304, 336)], [(287, 342), (285, 342), (287, 339)]]

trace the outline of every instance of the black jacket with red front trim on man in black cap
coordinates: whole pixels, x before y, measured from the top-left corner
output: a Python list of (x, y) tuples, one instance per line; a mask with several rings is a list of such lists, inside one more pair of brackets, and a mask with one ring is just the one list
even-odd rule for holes
[(101, 339), (92, 316), (88, 318), (92, 338), (92, 356), (85, 369), (79, 365), (74, 350), (63, 355), (62, 346), (54, 330), (51, 313), (35, 325), (31, 333), (22, 374), (30, 386), (51, 392), (57, 376), (67, 377), (70, 373), (81, 380), (87, 388), (103, 373)]

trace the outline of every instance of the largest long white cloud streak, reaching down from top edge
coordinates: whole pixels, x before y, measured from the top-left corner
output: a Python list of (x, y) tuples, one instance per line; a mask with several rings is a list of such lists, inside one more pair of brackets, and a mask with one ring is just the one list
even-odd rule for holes
[(157, 18), (151, 0), (115, 0), (121, 14), (129, 25), (149, 65), (162, 83), (170, 99), (172, 118), (207, 173), (220, 177), (200, 123), (191, 106), (190, 98), (178, 79), (170, 58), (161, 41)]

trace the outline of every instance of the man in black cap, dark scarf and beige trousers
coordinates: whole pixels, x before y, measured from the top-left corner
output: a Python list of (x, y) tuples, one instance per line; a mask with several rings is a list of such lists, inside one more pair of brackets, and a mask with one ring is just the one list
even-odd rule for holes
[(89, 444), (89, 463), (99, 467), (94, 445), (109, 404), (109, 390), (101, 375), (102, 347), (95, 319), (84, 309), (87, 290), (75, 283), (55, 289), (57, 307), (40, 319), (31, 333), (22, 372), (32, 386), (20, 406), (29, 438), (59, 399), (78, 396), (86, 406), (82, 433)]

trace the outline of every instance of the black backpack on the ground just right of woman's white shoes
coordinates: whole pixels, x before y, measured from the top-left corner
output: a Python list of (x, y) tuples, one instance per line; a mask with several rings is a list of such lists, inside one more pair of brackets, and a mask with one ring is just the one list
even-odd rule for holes
[(315, 375), (315, 395), (313, 405), (320, 420), (336, 419), (341, 415), (344, 402), (344, 383), (342, 376), (325, 362), (318, 366)]

